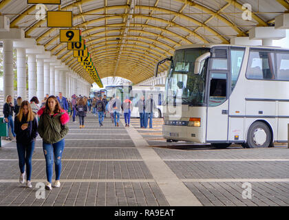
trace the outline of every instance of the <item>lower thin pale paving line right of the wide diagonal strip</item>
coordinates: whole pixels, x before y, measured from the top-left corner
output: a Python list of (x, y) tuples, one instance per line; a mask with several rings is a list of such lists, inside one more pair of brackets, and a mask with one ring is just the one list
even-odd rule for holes
[(289, 182), (289, 179), (180, 179), (181, 181), (184, 182), (223, 182), (223, 181), (231, 181), (231, 182), (236, 182), (236, 181), (242, 181), (242, 182), (254, 182), (254, 181), (264, 181), (264, 182)]

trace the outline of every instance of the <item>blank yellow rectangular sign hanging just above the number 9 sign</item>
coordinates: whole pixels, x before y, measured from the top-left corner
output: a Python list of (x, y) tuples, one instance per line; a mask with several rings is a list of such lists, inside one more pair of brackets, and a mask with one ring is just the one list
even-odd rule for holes
[(47, 11), (47, 28), (72, 28), (72, 11)]

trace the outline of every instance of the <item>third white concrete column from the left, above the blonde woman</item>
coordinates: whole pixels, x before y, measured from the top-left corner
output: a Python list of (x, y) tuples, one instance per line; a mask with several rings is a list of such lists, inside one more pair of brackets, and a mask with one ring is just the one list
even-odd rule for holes
[(28, 54), (28, 100), (36, 96), (36, 55)]

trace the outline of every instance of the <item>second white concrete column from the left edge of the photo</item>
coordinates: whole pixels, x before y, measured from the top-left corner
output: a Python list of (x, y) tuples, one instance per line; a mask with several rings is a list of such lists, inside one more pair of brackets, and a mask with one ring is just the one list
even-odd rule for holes
[(24, 48), (17, 48), (17, 96), (27, 99), (26, 94), (26, 52)]

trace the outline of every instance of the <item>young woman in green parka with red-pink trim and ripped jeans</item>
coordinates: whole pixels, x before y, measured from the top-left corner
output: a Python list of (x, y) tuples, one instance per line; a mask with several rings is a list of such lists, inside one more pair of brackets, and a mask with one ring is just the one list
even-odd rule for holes
[(60, 187), (61, 157), (65, 144), (64, 137), (68, 133), (67, 122), (69, 115), (61, 109), (55, 96), (50, 96), (45, 107), (38, 111), (38, 133), (43, 139), (43, 153), (46, 161), (47, 184), (46, 190), (52, 190), (53, 162), (55, 158), (55, 182), (54, 187)]

